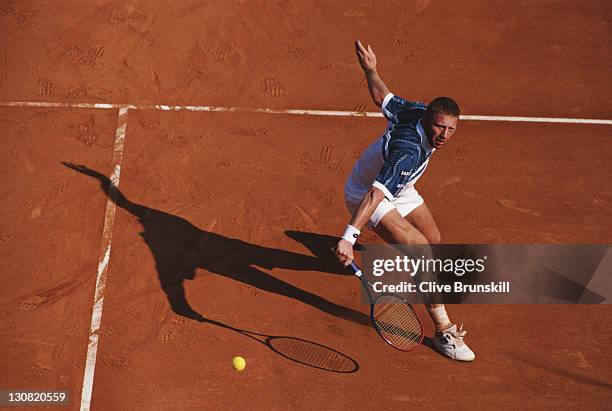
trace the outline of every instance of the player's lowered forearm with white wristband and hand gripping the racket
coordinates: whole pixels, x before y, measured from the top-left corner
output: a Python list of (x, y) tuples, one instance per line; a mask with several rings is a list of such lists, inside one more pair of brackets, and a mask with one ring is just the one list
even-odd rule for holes
[(372, 214), (374, 214), (376, 207), (378, 207), (378, 204), (380, 204), (384, 197), (385, 194), (382, 190), (372, 187), (361, 199), (357, 210), (355, 210), (351, 218), (351, 222), (334, 250), (338, 260), (345, 266), (353, 261), (353, 245), (357, 237), (359, 237), (362, 227), (368, 222)]

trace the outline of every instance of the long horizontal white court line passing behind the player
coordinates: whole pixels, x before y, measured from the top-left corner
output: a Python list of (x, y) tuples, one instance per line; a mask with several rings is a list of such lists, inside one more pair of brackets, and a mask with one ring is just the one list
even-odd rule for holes
[[(0, 101), (4, 107), (67, 107), (67, 108), (98, 108), (98, 109), (121, 109), (132, 110), (161, 110), (161, 111), (209, 111), (209, 112), (240, 112), (240, 113), (263, 113), (263, 114), (293, 114), (305, 116), (336, 116), (336, 117), (382, 117), (378, 112), (355, 112), (334, 110), (299, 110), (299, 109), (271, 109), (271, 108), (249, 108), (249, 107), (215, 107), (215, 106), (172, 106), (164, 104), (137, 105), (137, 104), (111, 104), (111, 103), (53, 103), (45, 101)], [(502, 122), (526, 122), (526, 123), (562, 123), (562, 124), (605, 124), (612, 125), (612, 120), (594, 118), (565, 118), (565, 117), (515, 117), (515, 116), (479, 116), (462, 115), (462, 120), (467, 121), (502, 121)]]

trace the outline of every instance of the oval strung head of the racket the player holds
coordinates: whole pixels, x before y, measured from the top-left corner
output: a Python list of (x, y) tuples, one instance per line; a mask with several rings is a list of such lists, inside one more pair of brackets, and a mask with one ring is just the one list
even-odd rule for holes
[(412, 307), (395, 297), (383, 296), (376, 301), (374, 322), (381, 336), (400, 350), (413, 349), (423, 339), (421, 322)]

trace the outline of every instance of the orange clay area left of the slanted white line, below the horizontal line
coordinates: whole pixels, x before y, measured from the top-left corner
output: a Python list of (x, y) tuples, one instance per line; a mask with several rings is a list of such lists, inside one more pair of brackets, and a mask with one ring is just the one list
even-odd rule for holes
[(61, 161), (110, 173), (117, 116), (2, 108), (0, 124), (0, 385), (76, 390), (106, 199)]

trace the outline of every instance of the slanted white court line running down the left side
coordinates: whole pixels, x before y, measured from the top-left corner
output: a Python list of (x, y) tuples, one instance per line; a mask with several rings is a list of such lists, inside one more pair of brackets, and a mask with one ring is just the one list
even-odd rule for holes
[(121, 160), (123, 158), (123, 145), (125, 142), (125, 129), (127, 126), (128, 107), (119, 108), (117, 119), (117, 132), (115, 133), (115, 147), (113, 150), (113, 172), (110, 176), (108, 200), (104, 212), (104, 228), (102, 229), (102, 244), (98, 262), (98, 276), (94, 293), (94, 305), (91, 312), (91, 326), (89, 329), (89, 344), (87, 345), (87, 360), (83, 376), (83, 390), (81, 391), (81, 410), (88, 411), (91, 405), (94, 373), (96, 369), (96, 356), (98, 354), (98, 331), (102, 322), (102, 308), (104, 306), (104, 289), (106, 287), (106, 274), (110, 260), (113, 225), (115, 223), (115, 210), (119, 177), (121, 175)]

